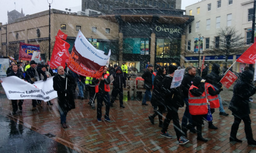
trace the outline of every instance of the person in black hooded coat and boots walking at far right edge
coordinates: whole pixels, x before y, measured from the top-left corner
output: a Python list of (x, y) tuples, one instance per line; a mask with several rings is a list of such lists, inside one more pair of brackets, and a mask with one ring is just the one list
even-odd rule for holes
[(256, 87), (251, 85), (253, 73), (250, 71), (244, 71), (233, 89), (233, 97), (230, 101), (228, 109), (232, 111), (234, 116), (234, 123), (231, 127), (230, 141), (242, 142), (236, 138), (236, 134), (239, 128), (241, 120), (244, 122), (244, 132), (249, 145), (256, 145), (256, 141), (253, 139), (253, 132), (251, 129), (251, 119), (249, 114), (249, 97), (255, 94)]

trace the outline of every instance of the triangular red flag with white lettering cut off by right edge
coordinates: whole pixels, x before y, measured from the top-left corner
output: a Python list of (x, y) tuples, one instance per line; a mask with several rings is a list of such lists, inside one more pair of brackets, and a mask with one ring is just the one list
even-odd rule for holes
[(254, 64), (256, 60), (256, 43), (249, 47), (236, 62)]

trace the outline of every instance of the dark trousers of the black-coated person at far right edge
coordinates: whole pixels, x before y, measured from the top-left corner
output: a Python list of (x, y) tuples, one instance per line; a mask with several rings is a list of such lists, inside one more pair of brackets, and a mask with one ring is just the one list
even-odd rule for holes
[(251, 118), (250, 118), (249, 114), (244, 115), (243, 117), (237, 116), (236, 114), (233, 114), (233, 115), (234, 115), (234, 123), (231, 126), (230, 137), (236, 138), (236, 133), (238, 131), (239, 124), (241, 123), (241, 120), (243, 120), (243, 122), (244, 122), (244, 132), (245, 132), (245, 135), (246, 135), (246, 139), (248, 141), (254, 141), (253, 132), (252, 132), (252, 129), (251, 129)]

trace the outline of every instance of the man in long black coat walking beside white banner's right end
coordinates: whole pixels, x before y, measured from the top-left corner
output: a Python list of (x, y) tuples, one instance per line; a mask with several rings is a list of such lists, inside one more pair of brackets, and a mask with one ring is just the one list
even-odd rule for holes
[(58, 110), (60, 114), (61, 125), (65, 129), (66, 116), (71, 109), (75, 109), (75, 102), (73, 92), (76, 90), (75, 80), (71, 75), (64, 72), (64, 68), (59, 66), (57, 68), (57, 75), (53, 77), (53, 89), (58, 94)]

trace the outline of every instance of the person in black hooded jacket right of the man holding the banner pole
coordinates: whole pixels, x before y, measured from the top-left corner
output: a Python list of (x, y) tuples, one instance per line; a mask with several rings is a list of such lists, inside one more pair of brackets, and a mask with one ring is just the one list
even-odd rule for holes
[(111, 93), (111, 104), (114, 103), (114, 101), (116, 100), (117, 94), (119, 94), (120, 107), (125, 108), (123, 103), (123, 98), (124, 98), (123, 84), (124, 84), (124, 88), (126, 88), (126, 77), (124, 76), (124, 73), (122, 72), (121, 67), (117, 67), (116, 73), (112, 75), (114, 77), (114, 82), (113, 82), (113, 90)]

